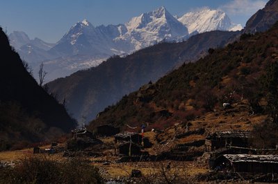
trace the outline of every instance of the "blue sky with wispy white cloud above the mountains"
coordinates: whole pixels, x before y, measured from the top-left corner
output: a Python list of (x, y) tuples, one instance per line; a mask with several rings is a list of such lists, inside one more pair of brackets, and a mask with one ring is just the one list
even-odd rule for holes
[(58, 42), (77, 21), (88, 19), (94, 26), (121, 24), (142, 12), (160, 6), (172, 15), (208, 7), (221, 9), (236, 24), (247, 19), (267, 0), (1, 0), (0, 26), (8, 33), (22, 30), (33, 39)]

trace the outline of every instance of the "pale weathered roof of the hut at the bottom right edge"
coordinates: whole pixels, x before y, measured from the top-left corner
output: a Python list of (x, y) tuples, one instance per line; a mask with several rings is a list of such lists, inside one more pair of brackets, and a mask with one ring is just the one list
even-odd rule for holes
[(278, 155), (224, 154), (231, 163), (277, 163)]

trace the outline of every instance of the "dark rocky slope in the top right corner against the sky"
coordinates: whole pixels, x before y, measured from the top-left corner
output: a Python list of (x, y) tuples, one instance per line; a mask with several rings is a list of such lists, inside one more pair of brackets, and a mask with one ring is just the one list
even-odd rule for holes
[(270, 0), (265, 8), (258, 10), (246, 23), (244, 33), (256, 33), (268, 30), (278, 21), (278, 1)]

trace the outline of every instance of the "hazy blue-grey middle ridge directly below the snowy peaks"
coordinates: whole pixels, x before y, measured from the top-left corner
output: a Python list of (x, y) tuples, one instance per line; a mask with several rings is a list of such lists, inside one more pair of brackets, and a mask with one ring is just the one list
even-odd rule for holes
[(156, 81), (182, 62), (195, 61), (208, 48), (231, 42), (239, 32), (213, 31), (190, 37), (186, 42), (161, 43), (126, 57), (111, 57), (106, 62), (69, 77), (49, 82), (47, 86), (59, 100), (66, 100), (74, 118), (95, 118), (99, 111), (138, 90), (150, 80)]

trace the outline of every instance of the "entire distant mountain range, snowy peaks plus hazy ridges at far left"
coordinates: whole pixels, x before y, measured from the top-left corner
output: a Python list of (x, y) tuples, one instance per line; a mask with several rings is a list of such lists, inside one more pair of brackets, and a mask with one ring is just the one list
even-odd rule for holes
[(220, 10), (189, 12), (179, 19), (165, 7), (133, 17), (126, 24), (92, 26), (86, 19), (77, 22), (56, 44), (29, 39), (25, 33), (10, 34), (11, 44), (22, 59), (38, 69), (44, 62), (47, 81), (75, 71), (97, 66), (112, 55), (127, 55), (161, 41), (181, 42), (192, 35), (211, 30), (241, 30)]

